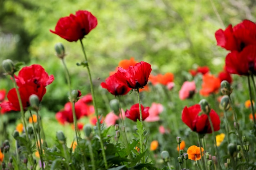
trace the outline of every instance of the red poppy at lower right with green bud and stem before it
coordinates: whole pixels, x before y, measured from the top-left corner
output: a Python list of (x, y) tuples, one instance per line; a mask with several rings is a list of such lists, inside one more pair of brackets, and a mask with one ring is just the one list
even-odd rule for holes
[[(199, 104), (195, 104), (189, 108), (186, 106), (182, 111), (182, 121), (194, 132), (200, 134), (211, 133), (211, 125), (208, 116), (206, 114), (200, 114), (201, 111)], [(209, 115), (214, 131), (220, 130), (220, 117), (218, 114), (211, 109)]]

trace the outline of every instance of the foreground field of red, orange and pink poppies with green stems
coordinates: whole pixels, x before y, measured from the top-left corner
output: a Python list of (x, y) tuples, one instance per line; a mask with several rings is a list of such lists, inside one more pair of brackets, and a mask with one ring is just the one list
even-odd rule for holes
[(77, 42), (84, 58), (74, 61), (75, 69), (90, 84), (85, 94), (73, 88), (79, 75), (65, 62), (71, 51), (56, 43), (68, 90), (57, 88), (68, 99), (53, 115), (43, 97), (60, 77), (40, 64), (2, 62), (13, 88), (0, 88), (0, 169), (256, 169), (254, 22), (216, 30), (217, 46), (227, 50), (222, 71), (197, 66), (182, 73), (180, 85), (174, 81), (181, 74), (157, 73), (136, 57), (120, 60), (106, 79), (93, 77), (83, 42), (97, 24), (92, 13), (79, 10), (50, 30)]

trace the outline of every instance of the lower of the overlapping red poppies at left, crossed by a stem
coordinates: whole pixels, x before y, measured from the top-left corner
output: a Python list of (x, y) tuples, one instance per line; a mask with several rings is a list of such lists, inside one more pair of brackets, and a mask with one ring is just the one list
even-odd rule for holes
[[(19, 93), (20, 98), (22, 101), (22, 106), (24, 110), (27, 110), (27, 107), (29, 107), (29, 96), (30, 95), (37, 95), (39, 100), (41, 101), (43, 98), (43, 95), (45, 95), (46, 89), (44, 86), (41, 86), (39, 88), (34, 88), (31, 84), (21, 84), (19, 87)], [(5, 109), (6, 111), (20, 111), (20, 105), (18, 101), (18, 96), (16, 93), (16, 89), (12, 88), (8, 94), (7, 98), (9, 102), (1, 103), (1, 108)]]

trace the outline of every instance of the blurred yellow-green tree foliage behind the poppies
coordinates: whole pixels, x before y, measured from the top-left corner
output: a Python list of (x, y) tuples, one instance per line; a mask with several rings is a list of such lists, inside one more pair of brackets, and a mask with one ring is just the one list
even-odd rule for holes
[[(49, 32), (59, 18), (80, 9), (98, 19), (83, 39), (96, 86), (130, 57), (149, 62), (153, 73), (174, 73), (179, 84), (185, 79), (182, 73), (197, 65), (209, 66), (212, 73), (222, 70), (227, 52), (216, 46), (215, 31), (243, 19), (255, 22), (255, 5), (255, 0), (0, 0), (0, 62), (10, 58), (41, 64), (55, 76), (44, 98), (48, 104), (56, 99), (64, 103), (68, 88), (54, 55), (54, 44), (62, 42), (71, 75), (80, 77), (72, 79), (72, 86), (88, 93), (86, 71), (76, 66), (83, 61), (80, 43)], [(2, 74), (0, 78), (0, 88), (8, 90), (11, 82)]]

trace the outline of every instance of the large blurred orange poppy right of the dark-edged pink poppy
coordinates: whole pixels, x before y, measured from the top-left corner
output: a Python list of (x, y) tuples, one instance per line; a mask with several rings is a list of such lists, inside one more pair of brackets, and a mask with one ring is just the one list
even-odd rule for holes
[(202, 89), (200, 95), (209, 96), (211, 93), (218, 93), (220, 88), (220, 79), (211, 74), (203, 75)]

